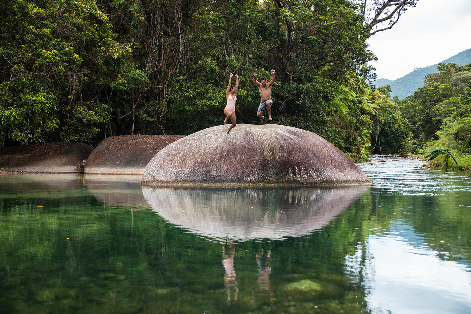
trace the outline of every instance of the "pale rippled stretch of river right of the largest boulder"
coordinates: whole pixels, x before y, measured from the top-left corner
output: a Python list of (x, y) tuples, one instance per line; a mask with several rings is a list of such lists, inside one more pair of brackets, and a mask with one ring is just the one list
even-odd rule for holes
[(451, 191), (471, 192), (469, 172), (441, 171), (423, 168), (417, 158), (374, 156), (358, 167), (371, 179), (372, 188), (403, 195), (447, 195)]

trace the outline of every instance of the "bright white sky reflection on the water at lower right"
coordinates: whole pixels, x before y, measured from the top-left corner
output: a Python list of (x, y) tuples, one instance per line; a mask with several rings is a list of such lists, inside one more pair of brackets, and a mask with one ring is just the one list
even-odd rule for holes
[[(448, 261), (423, 243), (405, 221), (389, 233), (370, 234), (358, 244), (346, 265), (353, 281), (362, 275), (368, 307), (373, 313), (471, 313), (471, 265)], [(364, 262), (362, 256), (364, 254)]]

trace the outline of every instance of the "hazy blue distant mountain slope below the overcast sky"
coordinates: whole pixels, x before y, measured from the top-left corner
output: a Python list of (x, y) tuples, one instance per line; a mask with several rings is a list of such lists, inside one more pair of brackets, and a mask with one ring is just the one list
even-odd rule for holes
[[(458, 65), (466, 65), (471, 63), (471, 48), (460, 52), (459, 54), (443, 60), (439, 63), (450, 63), (453, 62)], [(414, 71), (409, 74), (398, 78), (394, 81), (388, 79), (378, 79), (373, 82), (374, 86), (381, 87), (383, 85), (391, 86), (391, 98), (394, 96), (399, 99), (405, 98), (409, 95), (414, 94), (415, 89), (422, 87), (423, 80), (428, 73), (437, 72), (437, 64), (427, 66), (425, 68), (415, 68)]]

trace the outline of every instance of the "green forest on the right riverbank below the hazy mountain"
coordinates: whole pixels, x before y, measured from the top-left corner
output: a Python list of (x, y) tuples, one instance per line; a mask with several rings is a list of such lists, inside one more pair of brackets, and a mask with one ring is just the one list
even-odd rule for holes
[[(378, 153), (446, 151), (432, 166), (468, 169), (471, 166), (471, 64), (440, 63), (439, 72), (429, 73), (425, 85), (414, 95), (390, 99), (389, 85), (378, 88), (376, 133), (372, 142)], [(372, 117), (374, 118), (374, 117)], [(447, 156), (456, 157), (447, 164)], [(436, 156), (435, 156), (436, 157)]]

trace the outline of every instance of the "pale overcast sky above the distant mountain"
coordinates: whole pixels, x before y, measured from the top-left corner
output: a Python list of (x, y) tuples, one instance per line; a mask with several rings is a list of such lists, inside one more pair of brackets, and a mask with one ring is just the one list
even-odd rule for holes
[(395, 80), (471, 48), (470, 39), (471, 0), (419, 0), (368, 43), (378, 57), (377, 78)]

